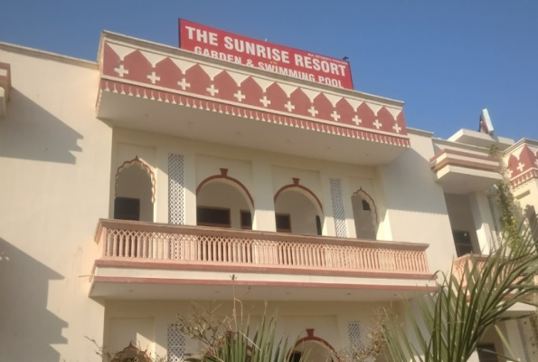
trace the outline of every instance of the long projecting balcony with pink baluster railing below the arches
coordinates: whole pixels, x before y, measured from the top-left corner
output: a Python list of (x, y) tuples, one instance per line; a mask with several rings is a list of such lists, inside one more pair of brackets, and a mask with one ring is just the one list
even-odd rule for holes
[(95, 241), (95, 298), (229, 299), (233, 286), (244, 300), (393, 300), (434, 288), (425, 244), (118, 220), (100, 220)]

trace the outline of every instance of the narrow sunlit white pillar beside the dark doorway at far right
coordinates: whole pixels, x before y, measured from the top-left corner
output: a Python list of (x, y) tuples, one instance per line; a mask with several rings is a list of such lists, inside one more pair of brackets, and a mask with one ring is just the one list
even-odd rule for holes
[(481, 193), (470, 194), (468, 195), (468, 200), (477, 230), (480, 251), (488, 254), (491, 251), (492, 244), (496, 243), (496, 231), (487, 195)]

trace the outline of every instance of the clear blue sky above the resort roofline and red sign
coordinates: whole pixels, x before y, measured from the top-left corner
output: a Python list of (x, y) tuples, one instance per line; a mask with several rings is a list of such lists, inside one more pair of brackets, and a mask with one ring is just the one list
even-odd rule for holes
[[(177, 45), (177, 18), (349, 57), (354, 87), (404, 100), (448, 138), (487, 108), (500, 136), (538, 139), (536, 0), (5, 1), (0, 41), (96, 60), (106, 29)], [(1, 60), (0, 60), (1, 61)]]

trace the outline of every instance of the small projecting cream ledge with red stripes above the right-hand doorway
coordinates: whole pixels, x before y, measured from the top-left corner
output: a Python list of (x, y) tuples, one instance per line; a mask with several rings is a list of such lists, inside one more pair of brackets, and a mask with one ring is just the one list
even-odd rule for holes
[(436, 182), (449, 194), (481, 192), (503, 179), (496, 157), (445, 148), (429, 164)]

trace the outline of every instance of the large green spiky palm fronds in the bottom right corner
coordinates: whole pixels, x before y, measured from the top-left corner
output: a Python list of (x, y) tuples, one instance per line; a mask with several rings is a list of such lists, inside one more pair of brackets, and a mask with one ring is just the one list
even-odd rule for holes
[[(536, 243), (531, 231), (522, 229), (518, 237), (511, 235), (510, 243), (501, 243), (486, 257), (471, 255), (459, 273), (454, 267), (448, 274), (438, 272), (437, 291), (418, 300), (420, 316), (411, 319), (411, 333), (401, 324), (384, 326), (393, 361), (465, 362), (492, 328), (511, 351), (497, 323), (514, 319), (505, 312), (516, 303), (535, 306), (533, 296), (538, 292)], [(406, 304), (410, 310), (410, 303)]]

